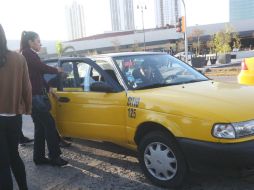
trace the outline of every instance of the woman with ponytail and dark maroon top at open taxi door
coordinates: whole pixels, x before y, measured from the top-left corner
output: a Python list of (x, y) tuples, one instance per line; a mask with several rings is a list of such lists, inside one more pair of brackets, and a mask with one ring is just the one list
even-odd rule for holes
[[(62, 70), (43, 64), (37, 54), (40, 49), (41, 42), (37, 33), (32, 31), (22, 32), (20, 51), (27, 60), (33, 94), (32, 119), (35, 126), (33, 160), (36, 165), (64, 166), (68, 162), (60, 157), (58, 132), (54, 118), (49, 112), (50, 108), (47, 108), (47, 105), (45, 109), (39, 106), (43, 103), (42, 97), (45, 97), (48, 92), (43, 74), (57, 74)], [(50, 103), (48, 102), (48, 104)], [(49, 150), (49, 159), (45, 156), (45, 140)]]

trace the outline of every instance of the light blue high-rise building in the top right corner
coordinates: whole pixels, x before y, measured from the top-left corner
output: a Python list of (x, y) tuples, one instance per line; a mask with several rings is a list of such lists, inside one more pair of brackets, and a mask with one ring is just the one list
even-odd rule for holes
[(254, 19), (253, 0), (230, 0), (229, 20), (230, 22), (244, 19)]

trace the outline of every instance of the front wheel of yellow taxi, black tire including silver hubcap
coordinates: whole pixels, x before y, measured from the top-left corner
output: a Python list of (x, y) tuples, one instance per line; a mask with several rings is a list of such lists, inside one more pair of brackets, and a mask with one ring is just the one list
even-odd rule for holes
[(138, 145), (138, 159), (148, 179), (167, 188), (180, 187), (187, 174), (184, 156), (172, 135), (155, 131)]

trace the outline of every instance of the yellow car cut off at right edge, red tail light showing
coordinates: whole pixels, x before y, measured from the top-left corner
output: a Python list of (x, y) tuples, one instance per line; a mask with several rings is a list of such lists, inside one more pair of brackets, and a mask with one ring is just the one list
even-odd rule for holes
[(238, 75), (240, 84), (254, 85), (254, 57), (242, 61), (241, 72)]

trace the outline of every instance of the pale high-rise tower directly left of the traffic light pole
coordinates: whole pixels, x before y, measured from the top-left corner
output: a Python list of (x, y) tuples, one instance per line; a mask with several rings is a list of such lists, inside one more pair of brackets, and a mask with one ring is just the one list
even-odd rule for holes
[(180, 0), (154, 0), (156, 27), (175, 25), (181, 16)]

